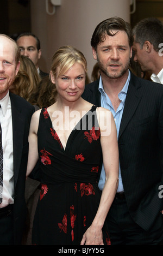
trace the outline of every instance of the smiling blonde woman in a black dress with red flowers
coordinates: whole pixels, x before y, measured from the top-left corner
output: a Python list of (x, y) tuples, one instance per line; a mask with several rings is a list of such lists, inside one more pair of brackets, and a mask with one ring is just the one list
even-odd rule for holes
[[(41, 193), (35, 245), (110, 245), (105, 218), (118, 184), (118, 146), (111, 112), (86, 102), (86, 59), (72, 46), (52, 59), (57, 101), (32, 117), (27, 176), (39, 159)], [(97, 182), (101, 160), (106, 182)]]

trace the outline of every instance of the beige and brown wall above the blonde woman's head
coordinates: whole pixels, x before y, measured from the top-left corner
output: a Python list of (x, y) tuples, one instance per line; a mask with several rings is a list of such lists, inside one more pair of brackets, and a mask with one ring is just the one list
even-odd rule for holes
[[(49, 1), (49, 11), (52, 5)], [(90, 40), (99, 22), (111, 16), (120, 16), (130, 22), (130, 0), (61, 0), (55, 14), (46, 13), (46, 0), (32, 0), (32, 32), (40, 38), (42, 57), (40, 67), (49, 72), (51, 58), (58, 47), (71, 44), (82, 51), (87, 59), (88, 74), (95, 60)]]

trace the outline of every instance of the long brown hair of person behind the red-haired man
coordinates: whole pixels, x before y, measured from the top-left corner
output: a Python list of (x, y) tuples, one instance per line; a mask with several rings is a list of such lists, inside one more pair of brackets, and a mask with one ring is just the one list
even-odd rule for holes
[(15, 93), (31, 104), (36, 104), (35, 95), (41, 80), (40, 76), (34, 63), (27, 56), (22, 55), (20, 61), (20, 69), (13, 84), (15, 86)]

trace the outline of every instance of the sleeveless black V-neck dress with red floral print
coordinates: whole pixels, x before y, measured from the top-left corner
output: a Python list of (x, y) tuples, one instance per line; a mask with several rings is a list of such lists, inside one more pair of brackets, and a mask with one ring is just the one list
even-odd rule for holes
[[(96, 106), (77, 123), (65, 149), (46, 108), (40, 114), (37, 136), (42, 187), (32, 242), (34, 245), (80, 245), (101, 198), (97, 180), (102, 149)], [(106, 227), (104, 224), (103, 241), (110, 245)]]

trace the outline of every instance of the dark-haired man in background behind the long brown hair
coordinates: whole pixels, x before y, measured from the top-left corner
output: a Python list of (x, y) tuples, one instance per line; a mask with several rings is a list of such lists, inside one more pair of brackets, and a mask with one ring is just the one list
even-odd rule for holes
[(39, 68), (39, 59), (41, 58), (39, 38), (32, 33), (23, 33), (17, 37), (16, 42), (21, 55), (27, 56), (33, 61), (40, 77), (43, 78), (44, 76), (47, 76), (48, 73), (43, 72)]

